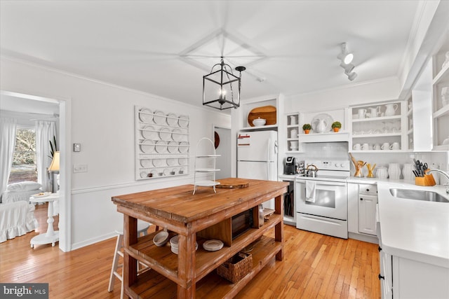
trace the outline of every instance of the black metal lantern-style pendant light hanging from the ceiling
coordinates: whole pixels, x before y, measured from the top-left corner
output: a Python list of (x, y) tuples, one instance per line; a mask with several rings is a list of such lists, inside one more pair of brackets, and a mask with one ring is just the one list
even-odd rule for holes
[[(214, 71), (215, 67), (220, 67), (220, 69), (217, 69), (217, 71)], [(229, 71), (228, 71), (229, 69)], [(210, 74), (203, 76), (203, 105), (204, 106), (210, 106), (215, 109), (219, 110), (225, 110), (234, 108), (237, 109), (240, 106), (240, 90), (241, 90), (241, 72), (244, 71), (246, 67), (236, 67), (236, 71), (239, 71), (240, 76), (237, 77), (232, 73), (232, 68), (229, 66), (229, 64), (225, 64), (223, 61), (223, 57), (221, 58), (221, 62), (215, 64), (212, 69), (210, 70)], [(220, 81), (215, 80), (213, 77), (217, 73), (219, 74)], [(206, 100), (206, 82), (207, 81), (217, 84), (217, 90), (220, 90), (218, 92), (218, 95), (216, 96), (210, 96), (212, 98), (211, 100)], [(232, 83), (239, 81), (239, 88), (237, 90), (236, 99), (234, 100), (234, 90), (232, 88)], [(222, 94), (222, 90), (225, 90), (225, 86), (229, 84), (229, 90), (231, 90), (231, 100), (226, 99), (226, 95)], [(229, 98), (229, 96), (228, 96)]]

